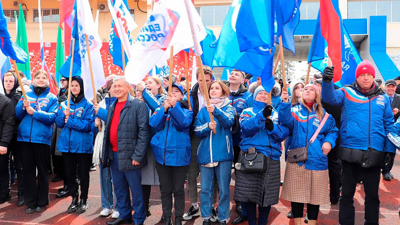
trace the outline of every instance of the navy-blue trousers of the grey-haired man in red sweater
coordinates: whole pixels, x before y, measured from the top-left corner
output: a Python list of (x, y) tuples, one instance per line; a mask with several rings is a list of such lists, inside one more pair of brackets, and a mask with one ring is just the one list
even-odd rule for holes
[(142, 170), (132, 169), (120, 171), (118, 169), (118, 153), (114, 152), (114, 160), (111, 161), (111, 174), (114, 185), (114, 193), (118, 202), (118, 212), (121, 219), (130, 219), (132, 216), (129, 188), (132, 192), (133, 221), (135, 224), (143, 224), (144, 203), (142, 190)]

